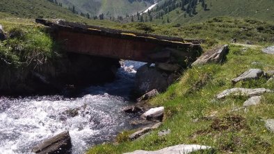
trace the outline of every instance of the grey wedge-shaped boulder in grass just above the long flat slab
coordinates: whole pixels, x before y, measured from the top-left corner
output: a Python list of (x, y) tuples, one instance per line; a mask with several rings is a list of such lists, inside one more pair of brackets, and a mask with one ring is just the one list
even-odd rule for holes
[(249, 69), (245, 71), (241, 76), (232, 79), (232, 83), (238, 83), (241, 80), (250, 80), (250, 79), (257, 79), (261, 76), (264, 76), (264, 71), (261, 69)]

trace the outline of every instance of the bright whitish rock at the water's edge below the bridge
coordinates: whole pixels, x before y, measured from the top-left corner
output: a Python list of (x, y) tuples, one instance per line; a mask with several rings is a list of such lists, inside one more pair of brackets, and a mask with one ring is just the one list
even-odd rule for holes
[(146, 120), (156, 119), (161, 121), (163, 119), (164, 109), (164, 107), (152, 108), (147, 112), (143, 113), (141, 117)]

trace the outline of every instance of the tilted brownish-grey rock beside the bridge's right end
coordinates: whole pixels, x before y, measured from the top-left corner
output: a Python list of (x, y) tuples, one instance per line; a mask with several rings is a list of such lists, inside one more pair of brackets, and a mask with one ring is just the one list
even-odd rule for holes
[(223, 46), (218, 46), (215, 49), (212, 49), (202, 54), (200, 58), (198, 58), (198, 60), (193, 62), (192, 66), (204, 65), (209, 62), (216, 62), (216, 63), (223, 62), (228, 52), (229, 52), (229, 49), (227, 44)]

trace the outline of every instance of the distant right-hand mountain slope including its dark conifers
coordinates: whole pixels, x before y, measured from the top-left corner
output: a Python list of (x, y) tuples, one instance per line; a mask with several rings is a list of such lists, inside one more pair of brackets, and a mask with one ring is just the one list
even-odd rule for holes
[[(184, 0), (183, 0), (184, 1)], [(163, 0), (156, 6), (150, 15), (155, 23), (179, 23), (202, 22), (211, 17), (250, 17), (264, 21), (274, 21), (273, 0), (191, 0), (194, 7), (188, 10), (188, 2), (185, 2), (182, 10), (182, 0)], [(202, 7), (202, 1), (206, 8)], [(167, 21), (169, 18), (169, 21)]]

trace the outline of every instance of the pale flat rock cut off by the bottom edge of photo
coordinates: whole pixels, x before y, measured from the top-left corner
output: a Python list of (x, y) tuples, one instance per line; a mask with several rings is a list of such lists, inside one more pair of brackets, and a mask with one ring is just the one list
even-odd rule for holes
[(180, 144), (177, 146), (169, 146), (167, 148), (162, 148), (159, 151), (134, 151), (132, 153), (124, 153), (124, 154), (187, 154), (192, 153), (194, 151), (201, 151), (201, 150), (209, 150), (211, 146), (200, 146), (200, 145), (187, 145), (187, 144)]

